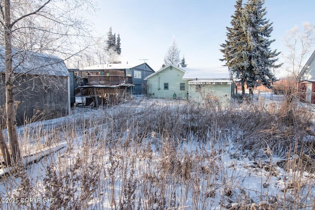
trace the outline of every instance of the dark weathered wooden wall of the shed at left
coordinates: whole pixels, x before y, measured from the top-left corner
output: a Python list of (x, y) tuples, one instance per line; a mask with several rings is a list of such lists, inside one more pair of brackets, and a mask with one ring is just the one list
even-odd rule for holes
[[(1, 74), (1, 108), (4, 108), (5, 105), (4, 78), (4, 74)], [(19, 83), (19, 81), (28, 82)], [(19, 81), (17, 81), (15, 89), (15, 100), (19, 103), (16, 113), (18, 125), (24, 124), (25, 120), (29, 119), (47, 120), (60, 118), (68, 114), (67, 77), (58, 78), (58, 88), (49, 88), (43, 84), (44, 81), (38, 78), (34, 79), (30, 75), (22, 75)], [(4, 111), (1, 109), (1, 120), (3, 120)]]

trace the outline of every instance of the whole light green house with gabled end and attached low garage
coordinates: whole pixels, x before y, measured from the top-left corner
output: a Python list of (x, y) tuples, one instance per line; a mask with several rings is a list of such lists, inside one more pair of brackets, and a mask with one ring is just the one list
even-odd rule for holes
[(233, 89), (226, 66), (180, 68), (168, 65), (145, 80), (151, 98), (189, 98), (202, 103), (212, 98), (222, 104), (230, 101)]

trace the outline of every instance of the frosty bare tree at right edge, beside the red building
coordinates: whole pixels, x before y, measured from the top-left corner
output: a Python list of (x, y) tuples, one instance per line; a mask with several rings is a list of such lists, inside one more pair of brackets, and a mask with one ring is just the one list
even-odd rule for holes
[(299, 72), (302, 70), (306, 59), (315, 47), (315, 25), (303, 23), (303, 30), (298, 26), (287, 31), (287, 36), (284, 38), (285, 46), (288, 49), (288, 55), (284, 55), (287, 60), (284, 66), (286, 70), (296, 79)]

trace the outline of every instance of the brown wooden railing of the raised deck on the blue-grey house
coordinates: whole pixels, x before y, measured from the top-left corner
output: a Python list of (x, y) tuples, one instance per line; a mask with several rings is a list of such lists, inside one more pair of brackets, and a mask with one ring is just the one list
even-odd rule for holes
[(119, 84), (131, 84), (131, 77), (126, 76), (105, 76), (105, 75), (90, 75), (88, 76), (89, 85), (119, 85)]

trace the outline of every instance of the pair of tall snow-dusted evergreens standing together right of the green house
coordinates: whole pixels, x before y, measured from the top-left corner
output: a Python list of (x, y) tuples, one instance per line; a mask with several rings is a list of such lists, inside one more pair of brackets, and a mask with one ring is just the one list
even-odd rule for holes
[(260, 85), (270, 88), (275, 80), (271, 68), (280, 67), (275, 65), (279, 53), (270, 49), (275, 40), (269, 40), (273, 28), (264, 18), (267, 12), (263, 4), (264, 0), (248, 0), (242, 7), (242, 0), (237, 0), (232, 28), (227, 28), (227, 40), (221, 45), (222, 60), (226, 61), (231, 76), (241, 81), (243, 94), (245, 83), (251, 94)]

